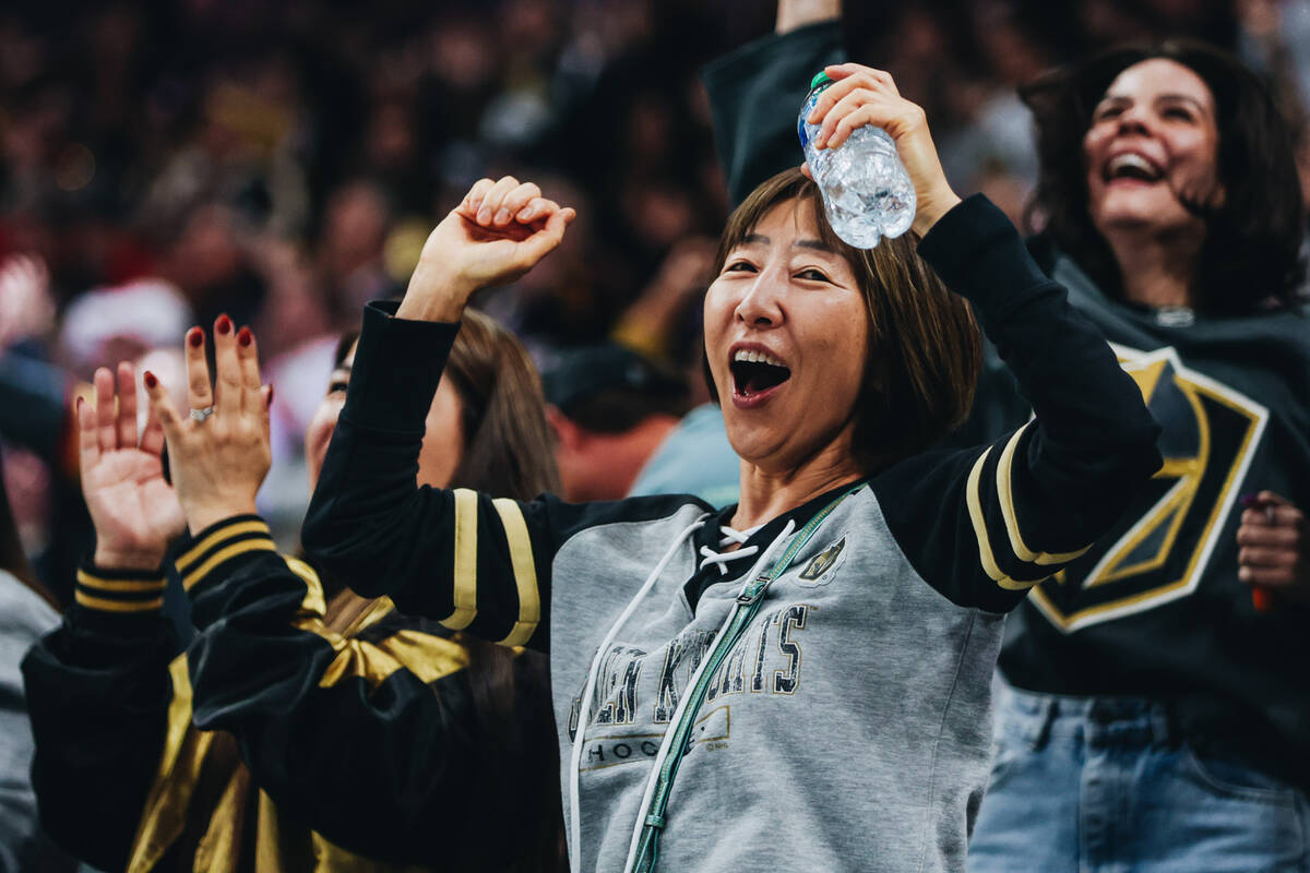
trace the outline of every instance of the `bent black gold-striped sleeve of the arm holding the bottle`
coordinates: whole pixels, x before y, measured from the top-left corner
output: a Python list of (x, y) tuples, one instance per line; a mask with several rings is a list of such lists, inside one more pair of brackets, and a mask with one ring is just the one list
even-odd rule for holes
[(1161, 466), (1159, 425), (1100, 332), (984, 196), (943, 216), (918, 253), (973, 305), (1035, 416), (989, 446), (904, 461), (872, 487), (929, 584), (1005, 611), (1127, 509)]

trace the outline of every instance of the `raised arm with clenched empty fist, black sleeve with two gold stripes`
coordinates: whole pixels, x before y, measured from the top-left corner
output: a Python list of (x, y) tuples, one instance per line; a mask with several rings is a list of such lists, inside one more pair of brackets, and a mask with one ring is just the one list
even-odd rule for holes
[(424, 420), (474, 291), (523, 275), (572, 209), (516, 179), (478, 182), (438, 225), (398, 309), (372, 304), (305, 516), (307, 552), (365, 597), (487, 640), (545, 647), (548, 501), (418, 487)]

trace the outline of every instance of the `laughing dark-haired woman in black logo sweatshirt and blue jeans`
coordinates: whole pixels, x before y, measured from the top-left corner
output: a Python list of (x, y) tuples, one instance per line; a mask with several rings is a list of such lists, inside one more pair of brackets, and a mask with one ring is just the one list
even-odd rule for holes
[[(706, 71), (730, 173), (802, 160), (793, 107), (844, 56), (829, 5)], [(1022, 96), (1047, 216), (1030, 247), (1138, 383), (1166, 462), (1014, 616), (969, 869), (1310, 869), (1296, 666), (1310, 322), (1290, 132), (1237, 60), (1188, 42), (1111, 50)], [(1027, 419), (986, 382), (979, 429)]]

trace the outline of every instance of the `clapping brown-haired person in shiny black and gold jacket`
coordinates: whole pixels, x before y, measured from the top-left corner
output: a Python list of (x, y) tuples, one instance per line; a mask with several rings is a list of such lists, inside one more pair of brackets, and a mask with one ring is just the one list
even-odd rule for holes
[[(187, 339), (193, 385), (207, 385), (204, 335)], [(221, 383), (254, 340), (224, 317), (215, 343)], [(346, 338), (307, 433), (310, 484), (352, 359)], [(541, 387), (517, 340), (474, 315), (451, 360), (410, 482), (517, 497), (553, 487)], [(246, 459), (267, 465), (270, 395), (255, 387)], [(198, 631), (179, 654), (160, 606), (182, 505), (162, 478), (160, 425), (136, 438), (130, 365), (117, 395), (115, 416), (101, 370), (97, 408), (79, 410), (96, 555), (63, 626), (24, 662), (56, 839), (106, 870), (561, 869), (545, 660), (364, 599), (279, 555), (254, 514), (195, 527), (169, 559)], [(190, 461), (172, 454), (174, 482)], [(403, 767), (376, 759), (396, 747), (410, 749)], [(520, 822), (515, 840), (490, 839), (491, 811)]]

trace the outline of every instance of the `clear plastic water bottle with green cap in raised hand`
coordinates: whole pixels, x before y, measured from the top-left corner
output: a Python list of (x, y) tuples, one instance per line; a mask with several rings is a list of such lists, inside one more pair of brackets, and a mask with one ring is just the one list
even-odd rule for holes
[(883, 237), (895, 240), (914, 224), (914, 183), (887, 131), (857, 127), (838, 148), (816, 149), (817, 124), (806, 120), (832, 79), (819, 73), (800, 107), (796, 132), (810, 171), (823, 192), (828, 224), (849, 245), (872, 249)]

